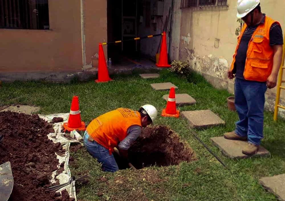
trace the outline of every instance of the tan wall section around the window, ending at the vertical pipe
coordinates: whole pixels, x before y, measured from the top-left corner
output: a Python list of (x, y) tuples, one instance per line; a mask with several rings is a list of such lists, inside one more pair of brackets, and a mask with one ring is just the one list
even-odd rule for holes
[(0, 29), (0, 71), (81, 70), (80, 1), (49, 0), (50, 30)]

